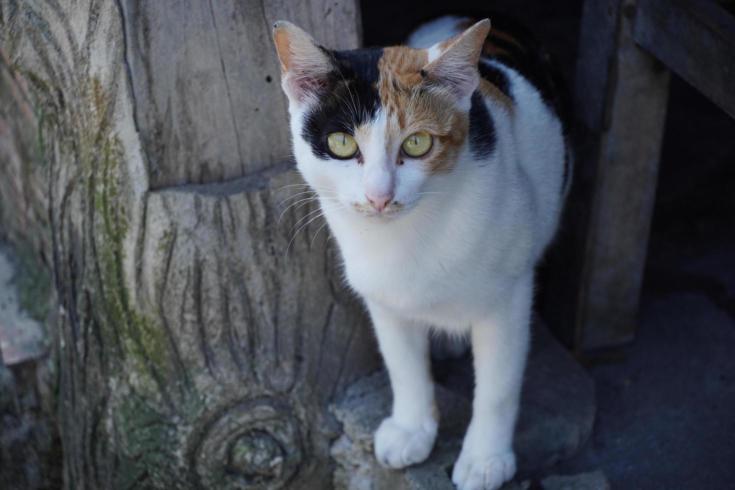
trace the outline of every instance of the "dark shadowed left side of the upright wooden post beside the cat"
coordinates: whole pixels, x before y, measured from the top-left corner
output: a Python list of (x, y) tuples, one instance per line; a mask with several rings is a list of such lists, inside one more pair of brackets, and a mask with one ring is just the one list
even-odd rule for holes
[[(569, 346), (576, 347), (577, 310), (581, 300), (584, 250), (589, 231), (592, 190), (597, 175), (599, 134), (609, 126), (609, 92), (613, 79), (620, 0), (587, 0), (583, 4), (573, 101), (578, 120), (573, 148), (574, 179), (562, 216), (559, 237), (548, 252), (542, 271), (547, 285), (539, 298), (550, 327)], [(609, 112), (609, 111), (608, 111)]]

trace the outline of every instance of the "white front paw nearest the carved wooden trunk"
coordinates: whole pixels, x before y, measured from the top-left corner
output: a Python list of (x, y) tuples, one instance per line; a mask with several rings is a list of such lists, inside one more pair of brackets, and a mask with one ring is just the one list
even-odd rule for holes
[(416, 428), (404, 428), (388, 417), (375, 433), (375, 457), (382, 466), (403, 468), (424, 461), (437, 439), (437, 422), (427, 420)]

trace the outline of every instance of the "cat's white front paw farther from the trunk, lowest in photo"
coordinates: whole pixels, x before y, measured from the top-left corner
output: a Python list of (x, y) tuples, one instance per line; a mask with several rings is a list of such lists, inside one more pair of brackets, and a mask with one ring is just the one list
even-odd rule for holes
[(515, 475), (512, 451), (481, 455), (462, 448), (454, 464), (452, 483), (459, 490), (497, 490)]

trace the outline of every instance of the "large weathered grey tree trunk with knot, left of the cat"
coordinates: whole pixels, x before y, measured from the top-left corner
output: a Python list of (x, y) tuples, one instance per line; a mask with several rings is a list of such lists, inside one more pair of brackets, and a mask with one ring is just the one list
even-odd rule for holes
[(354, 47), (356, 2), (0, 9), (3, 107), (31, 111), (0, 124), (37, 124), (1, 140), (0, 225), (51, 264), (65, 486), (329, 488), (326, 406), (378, 359), (320, 220), (288, 232), (315, 207), (277, 226), (301, 188), (270, 29)]

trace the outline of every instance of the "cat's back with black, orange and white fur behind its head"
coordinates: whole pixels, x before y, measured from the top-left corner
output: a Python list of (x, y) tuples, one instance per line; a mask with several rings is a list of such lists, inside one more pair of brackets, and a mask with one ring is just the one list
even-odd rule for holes
[[(476, 20), (454, 15), (437, 18), (415, 29), (406, 43), (415, 48), (434, 46)], [(564, 83), (550, 54), (531, 32), (501, 15), (490, 15), (490, 23), (478, 61), (482, 98), (473, 96), (470, 131), (473, 113), (480, 114), (487, 107), (490, 120), (475, 117), (474, 123), (487, 126), (483, 134), (495, 136), (496, 144), (490, 145), (495, 153), (490, 152), (489, 158), (506, 168), (520, 169), (526, 176), (524, 194), (537, 210), (541, 249), (556, 230), (572, 177), (573, 158), (567, 142), (570, 111)], [(484, 104), (479, 102), (483, 99)]]

